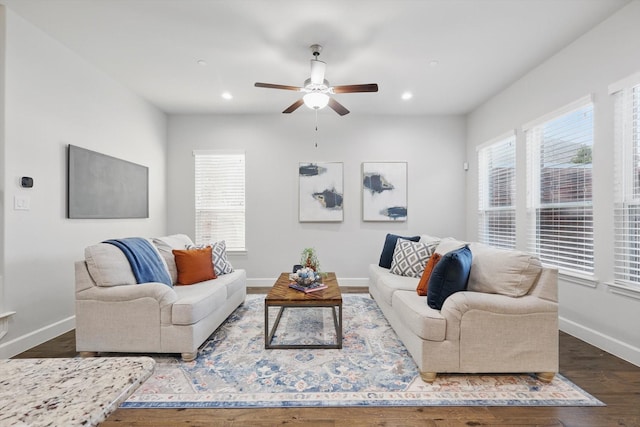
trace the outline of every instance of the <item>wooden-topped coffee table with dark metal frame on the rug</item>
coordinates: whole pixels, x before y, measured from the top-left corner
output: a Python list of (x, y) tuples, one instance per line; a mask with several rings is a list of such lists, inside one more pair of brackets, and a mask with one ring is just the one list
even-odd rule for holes
[[(327, 289), (304, 293), (289, 287), (289, 273), (281, 273), (273, 288), (264, 299), (264, 348), (342, 348), (342, 294), (335, 273), (323, 273), (322, 282)], [(280, 307), (273, 327), (269, 329), (269, 308)], [(273, 335), (278, 329), (285, 308), (329, 307), (336, 328), (335, 344), (272, 344)]]

